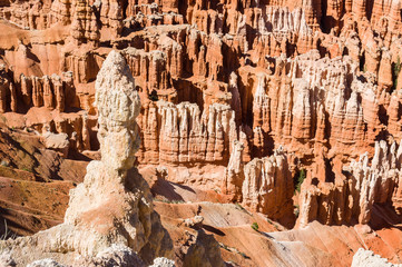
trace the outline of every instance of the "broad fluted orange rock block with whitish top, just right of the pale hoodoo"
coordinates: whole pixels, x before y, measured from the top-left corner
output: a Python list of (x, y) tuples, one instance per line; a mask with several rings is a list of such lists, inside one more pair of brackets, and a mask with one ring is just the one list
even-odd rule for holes
[(189, 102), (149, 102), (139, 125), (144, 145), (138, 157), (155, 164), (227, 162), (231, 144), (237, 140), (234, 111), (222, 103), (200, 112)]

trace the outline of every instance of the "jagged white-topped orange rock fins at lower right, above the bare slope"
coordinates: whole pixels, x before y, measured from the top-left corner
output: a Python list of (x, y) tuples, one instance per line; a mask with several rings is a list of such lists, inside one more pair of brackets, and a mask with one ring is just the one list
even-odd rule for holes
[(326, 225), (369, 224), (374, 204), (400, 209), (401, 146), (382, 140), (375, 142), (375, 154), (343, 167), (345, 178), (334, 181), (311, 177), (303, 182), (300, 196), (300, 225), (312, 220)]

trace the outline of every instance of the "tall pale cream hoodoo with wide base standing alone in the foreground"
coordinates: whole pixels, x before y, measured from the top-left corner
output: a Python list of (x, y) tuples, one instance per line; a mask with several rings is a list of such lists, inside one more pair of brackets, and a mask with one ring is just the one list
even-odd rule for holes
[[(124, 57), (111, 51), (96, 81), (101, 160), (91, 161), (70, 192), (65, 222), (31, 237), (4, 241), (18, 264), (51, 255), (60, 263), (91, 259), (126, 246), (147, 264), (171, 255), (171, 240), (153, 209), (149, 187), (135, 169), (140, 100)], [(85, 260), (85, 259), (84, 259)], [(79, 265), (79, 264), (77, 264)]]

